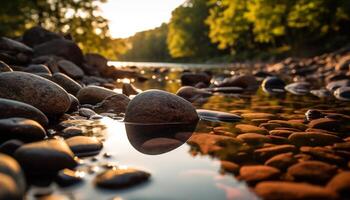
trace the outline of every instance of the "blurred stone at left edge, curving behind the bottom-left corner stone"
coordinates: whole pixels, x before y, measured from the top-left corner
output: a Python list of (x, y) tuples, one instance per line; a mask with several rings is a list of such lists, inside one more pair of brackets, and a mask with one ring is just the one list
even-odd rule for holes
[(18, 162), (15, 159), (8, 155), (0, 153), (0, 173), (7, 174), (12, 177), (16, 182), (17, 189), (20, 191), (20, 194), (24, 194), (26, 190), (26, 181), (21, 166), (19, 166)]

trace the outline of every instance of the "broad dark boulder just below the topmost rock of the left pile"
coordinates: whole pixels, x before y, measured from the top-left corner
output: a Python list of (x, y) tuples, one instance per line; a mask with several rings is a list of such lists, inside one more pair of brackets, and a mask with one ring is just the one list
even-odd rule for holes
[(84, 56), (77, 44), (66, 39), (54, 39), (34, 47), (34, 56), (55, 55), (81, 65)]

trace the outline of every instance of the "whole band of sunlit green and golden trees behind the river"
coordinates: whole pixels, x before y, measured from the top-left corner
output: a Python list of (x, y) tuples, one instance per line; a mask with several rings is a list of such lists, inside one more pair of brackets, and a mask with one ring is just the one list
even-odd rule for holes
[(312, 56), (341, 47), (350, 35), (347, 0), (187, 0), (169, 23), (113, 39), (99, 12), (104, 2), (6, 1), (0, 7), (0, 34), (16, 37), (40, 25), (73, 37), (84, 52), (168, 62)]

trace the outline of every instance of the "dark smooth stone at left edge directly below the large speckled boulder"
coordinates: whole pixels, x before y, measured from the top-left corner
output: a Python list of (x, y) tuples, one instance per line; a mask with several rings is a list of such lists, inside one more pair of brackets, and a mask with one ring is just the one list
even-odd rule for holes
[(37, 108), (19, 101), (0, 98), (0, 119), (12, 117), (32, 119), (44, 127), (49, 123), (45, 114)]

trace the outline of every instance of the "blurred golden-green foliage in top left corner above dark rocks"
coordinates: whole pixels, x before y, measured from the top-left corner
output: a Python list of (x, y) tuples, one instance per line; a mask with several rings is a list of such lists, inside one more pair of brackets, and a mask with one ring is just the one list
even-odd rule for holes
[(106, 0), (10, 0), (1, 2), (0, 34), (16, 37), (40, 25), (50, 31), (70, 34), (84, 52), (115, 57), (108, 21), (99, 5)]

